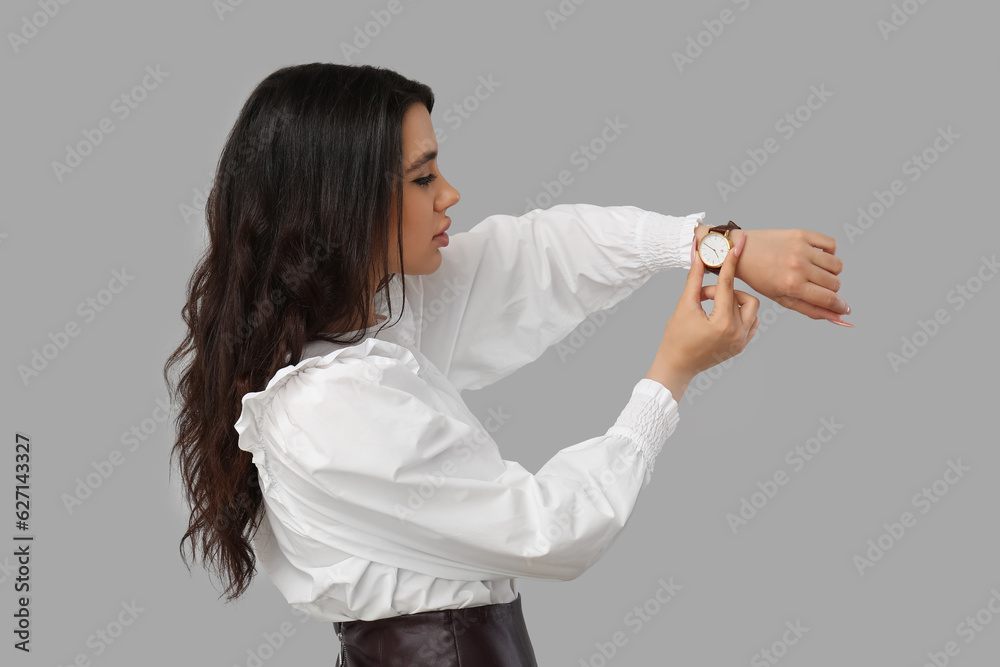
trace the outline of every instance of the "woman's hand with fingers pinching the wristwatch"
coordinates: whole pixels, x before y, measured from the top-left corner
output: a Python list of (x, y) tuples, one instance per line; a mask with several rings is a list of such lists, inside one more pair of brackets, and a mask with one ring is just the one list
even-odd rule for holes
[[(745, 243), (746, 236), (741, 234), (722, 263), (716, 285), (702, 285), (705, 265), (692, 243), (687, 283), (646, 375), (669, 389), (674, 400), (680, 400), (698, 373), (742, 352), (757, 331), (760, 300), (733, 289), (736, 264)], [(715, 304), (712, 313), (706, 314), (701, 302), (709, 299)]]

